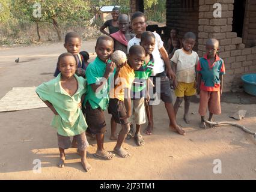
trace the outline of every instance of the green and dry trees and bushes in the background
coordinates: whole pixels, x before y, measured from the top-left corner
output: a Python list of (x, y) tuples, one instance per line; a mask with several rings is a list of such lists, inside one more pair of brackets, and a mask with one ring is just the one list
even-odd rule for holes
[[(34, 18), (38, 2), (41, 18)], [(144, 0), (148, 20), (165, 22), (166, 0)], [(31, 43), (41, 35), (45, 40), (57, 40), (68, 31), (80, 31), (84, 38), (100, 34), (102, 20), (90, 20), (104, 5), (120, 5), (120, 12), (130, 13), (130, 0), (0, 0), (0, 44)], [(38, 23), (38, 30), (37, 30)], [(37, 32), (38, 31), (38, 32)]]

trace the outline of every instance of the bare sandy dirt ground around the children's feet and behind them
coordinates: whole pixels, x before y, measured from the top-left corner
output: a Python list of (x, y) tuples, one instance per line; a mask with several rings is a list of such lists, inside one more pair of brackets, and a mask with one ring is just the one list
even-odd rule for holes
[[(82, 50), (95, 56), (92, 54), (94, 46), (95, 41), (84, 41)], [(52, 79), (57, 57), (62, 52), (65, 52), (62, 43), (0, 48), (0, 98), (13, 87), (38, 86)], [(19, 63), (14, 62), (17, 57), (20, 58)], [(236, 122), (256, 132), (256, 104), (236, 102), (236, 97), (224, 95), (225, 101), (234, 102), (222, 103), (222, 115), (215, 116), (215, 120), (236, 121), (228, 116), (244, 109), (247, 110), (246, 118)], [(248, 98), (255, 101), (255, 97)], [(82, 169), (74, 148), (67, 150), (66, 167), (56, 167), (57, 139), (55, 130), (50, 127), (53, 114), (49, 109), (2, 112), (0, 179), (256, 179), (254, 137), (231, 126), (202, 130), (198, 127), (197, 101), (195, 99), (190, 107), (190, 113), (195, 113), (190, 114), (190, 125), (182, 119), (183, 107), (178, 111), (177, 121), (183, 125), (186, 136), (168, 129), (168, 116), (161, 102), (154, 106), (153, 135), (143, 134), (145, 146), (138, 147), (134, 140), (126, 140), (124, 148), (132, 154), (130, 158), (116, 156), (114, 160), (103, 161), (91, 157), (88, 161), (93, 169), (89, 173)], [(109, 140), (110, 116), (105, 114), (108, 130), (105, 148), (112, 151), (115, 142)], [(96, 152), (96, 141), (90, 138), (88, 141), (88, 151)], [(41, 161), (41, 173), (32, 171), (36, 159)], [(216, 159), (221, 160), (222, 173), (213, 172)]]

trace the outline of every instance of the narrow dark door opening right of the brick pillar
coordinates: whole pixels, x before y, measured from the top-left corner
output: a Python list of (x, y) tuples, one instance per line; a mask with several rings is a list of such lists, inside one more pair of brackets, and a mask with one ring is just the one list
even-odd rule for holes
[(233, 11), (233, 32), (237, 33), (237, 37), (243, 35), (243, 21), (245, 19), (245, 5), (246, 0), (234, 1)]

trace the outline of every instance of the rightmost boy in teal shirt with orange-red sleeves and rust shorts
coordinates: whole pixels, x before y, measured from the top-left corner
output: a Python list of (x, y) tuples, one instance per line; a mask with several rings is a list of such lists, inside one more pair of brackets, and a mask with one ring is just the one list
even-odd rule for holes
[(219, 41), (211, 38), (206, 42), (206, 55), (200, 58), (197, 65), (197, 90), (200, 93), (199, 114), (201, 128), (206, 128), (204, 116), (209, 108), (209, 121), (213, 121), (213, 114), (221, 114), (221, 95), (223, 89), (224, 61), (216, 54)]

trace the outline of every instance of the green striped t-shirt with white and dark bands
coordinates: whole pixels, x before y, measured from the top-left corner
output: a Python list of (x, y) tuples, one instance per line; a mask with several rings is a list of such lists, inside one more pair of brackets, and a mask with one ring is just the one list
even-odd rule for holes
[(145, 90), (146, 90), (146, 82), (148, 77), (151, 76), (152, 70), (154, 67), (154, 59), (153, 56), (150, 54), (150, 61), (148, 64), (144, 64), (138, 69), (135, 70), (135, 79), (132, 83), (132, 99), (136, 98), (143, 98), (145, 97)]

